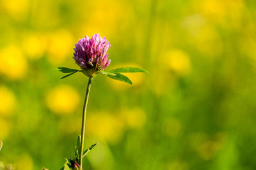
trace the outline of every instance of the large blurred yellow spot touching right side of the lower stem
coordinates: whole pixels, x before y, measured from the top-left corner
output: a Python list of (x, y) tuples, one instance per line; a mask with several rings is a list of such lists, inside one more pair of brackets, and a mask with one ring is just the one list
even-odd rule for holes
[(109, 143), (118, 143), (124, 133), (124, 125), (109, 113), (90, 114), (86, 123), (87, 132)]

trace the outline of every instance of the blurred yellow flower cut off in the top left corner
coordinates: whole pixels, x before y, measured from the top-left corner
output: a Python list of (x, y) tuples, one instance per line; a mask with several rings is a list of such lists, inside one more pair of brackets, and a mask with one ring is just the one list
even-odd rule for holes
[(1, 4), (4, 10), (16, 20), (26, 17), (29, 8), (29, 0), (3, 0)]

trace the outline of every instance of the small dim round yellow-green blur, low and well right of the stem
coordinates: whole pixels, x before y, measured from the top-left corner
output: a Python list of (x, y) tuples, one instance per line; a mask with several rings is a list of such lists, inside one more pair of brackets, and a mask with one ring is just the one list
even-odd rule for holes
[(177, 118), (166, 118), (163, 122), (163, 131), (169, 136), (178, 136), (182, 131), (182, 124)]

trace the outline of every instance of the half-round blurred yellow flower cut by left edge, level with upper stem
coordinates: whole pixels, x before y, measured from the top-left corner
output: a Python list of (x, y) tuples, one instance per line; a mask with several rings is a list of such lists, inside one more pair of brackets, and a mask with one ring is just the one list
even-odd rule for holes
[(3, 85), (0, 85), (0, 94), (0, 116), (8, 116), (15, 106), (15, 95)]

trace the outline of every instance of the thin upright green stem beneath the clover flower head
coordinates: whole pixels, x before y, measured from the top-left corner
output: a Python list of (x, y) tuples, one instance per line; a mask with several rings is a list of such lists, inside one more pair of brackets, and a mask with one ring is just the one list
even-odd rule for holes
[(91, 89), (92, 77), (89, 77), (88, 85), (86, 89), (85, 99), (84, 99), (84, 107), (83, 107), (83, 120), (82, 120), (82, 129), (81, 129), (81, 146), (80, 146), (80, 154), (79, 154), (79, 165), (83, 167), (83, 150), (84, 150), (84, 131), (85, 131), (85, 120), (86, 120), (86, 108), (89, 99), (89, 93)]

